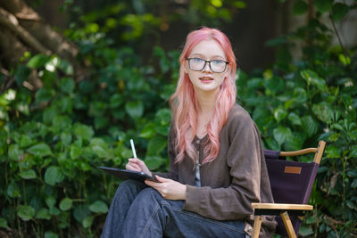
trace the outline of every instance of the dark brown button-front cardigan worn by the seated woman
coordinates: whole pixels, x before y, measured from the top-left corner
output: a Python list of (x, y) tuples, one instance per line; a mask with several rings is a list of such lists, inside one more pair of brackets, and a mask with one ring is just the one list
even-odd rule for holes
[[(262, 142), (253, 119), (239, 105), (229, 111), (228, 120), (220, 131), (218, 157), (200, 167), (201, 187), (195, 187), (195, 164), (188, 156), (175, 163), (175, 133), (169, 133), (169, 173), (156, 173), (187, 185), (183, 209), (216, 220), (242, 219), (253, 224), (252, 202), (273, 202), (270, 181), (262, 151)], [(204, 141), (197, 137), (193, 144), (204, 159)], [(271, 237), (276, 222), (263, 219), (260, 237)]]

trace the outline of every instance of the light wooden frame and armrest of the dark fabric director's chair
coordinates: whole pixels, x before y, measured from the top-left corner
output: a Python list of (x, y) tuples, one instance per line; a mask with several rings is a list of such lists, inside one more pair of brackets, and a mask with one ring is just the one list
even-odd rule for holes
[[(320, 141), (317, 148), (307, 148), (295, 152), (280, 152), (279, 156), (297, 156), (306, 153), (315, 153), (313, 162), (320, 164), (322, 154), (325, 150), (326, 143)], [(252, 203), (252, 208), (254, 209), (254, 224), (252, 238), (258, 238), (262, 226), (262, 216), (263, 215), (279, 215), (286, 228), (286, 232), (290, 238), (297, 237), (295, 234), (294, 227), (290, 221), (289, 213), (296, 214), (301, 219), (303, 219), (303, 212), (306, 210), (312, 210), (311, 205), (306, 204), (283, 204), (283, 203)]]

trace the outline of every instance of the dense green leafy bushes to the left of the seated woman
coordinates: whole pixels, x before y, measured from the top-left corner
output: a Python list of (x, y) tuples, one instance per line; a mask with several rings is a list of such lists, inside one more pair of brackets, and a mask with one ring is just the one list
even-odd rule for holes
[[(123, 168), (132, 157), (130, 138), (149, 168), (168, 166), (167, 100), (179, 53), (156, 47), (155, 70), (104, 38), (81, 53), (93, 71), (79, 81), (69, 62), (37, 54), (13, 70), (17, 87), (0, 97), (1, 227), (27, 233), (34, 226), (46, 237), (98, 236), (120, 183), (98, 167)], [(43, 82), (36, 92), (23, 86), (30, 70)]]

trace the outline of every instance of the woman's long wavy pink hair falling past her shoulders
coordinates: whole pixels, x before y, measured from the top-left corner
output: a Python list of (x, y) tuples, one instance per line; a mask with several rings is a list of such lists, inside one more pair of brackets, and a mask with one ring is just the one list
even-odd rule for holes
[(228, 119), (229, 110), (236, 102), (237, 88), (236, 88), (236, 57), (233, 53), (232, 46), (228, 37), (224, 35), (219, 29), (203, 28), (194, 30), (187, 36), (186, 45), (179, 57), (179, 82), (176, 92), (170, 98), (170, 106), (174, 120), (174, 129), (176, 132), (176, 139), (174, 141), (175, 149), (178, 155), (176, 162), (182, 161), (187, 154), (195, 161), (195, 148), (192, 142), (195, 139), (197, 128), (197, 110), (199, 104), (195, 96), (194, 87), (185, 73), (185, 62), (192, 48), (203, 40), (215, 40), (226, 54), (230, 70), (228, 77), (224, 79), (220, 90), (216, 95), (216, 105), (214, 107), (213, 116), (207, 125), (208, 141), (205, 144), (204, 152), (207, 156), (203, 163), (211, 162), (217, 158), (220, 152), (220, 130)]

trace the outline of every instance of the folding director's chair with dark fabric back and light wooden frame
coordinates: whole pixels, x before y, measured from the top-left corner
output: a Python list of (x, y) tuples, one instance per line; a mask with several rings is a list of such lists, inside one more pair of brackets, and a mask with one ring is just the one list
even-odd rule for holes
[[(326, 143), (320, 141), (317, 148), (307, 148), (295, 152), (275, 152), (264, 150), (274, 203), (252, 203), (254, 225), (252, 238), (258, 238), (262, 226), (262, 216), (276, 216), (276, 234), (296, 237), (303, 220), (303, 213), (313, 207), (307, 205), (312, 185), (320, 166)], [(286, 157), (314, 153), (312, 162), (281, 160)]]

